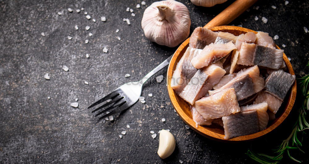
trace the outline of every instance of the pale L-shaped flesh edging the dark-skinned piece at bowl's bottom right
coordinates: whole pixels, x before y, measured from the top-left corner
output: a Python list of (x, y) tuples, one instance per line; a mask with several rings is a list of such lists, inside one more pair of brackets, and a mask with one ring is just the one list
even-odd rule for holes
[(250, 111), (250, 110), (256, 110), (257, 116), (259, 119), (259, 130), (263, 130), (267, 127), (269, 116), (267, 113), (267, 103), (258, 103), (253, 105), (247, 105), (244, 107), (240, 107), (240, 111)]

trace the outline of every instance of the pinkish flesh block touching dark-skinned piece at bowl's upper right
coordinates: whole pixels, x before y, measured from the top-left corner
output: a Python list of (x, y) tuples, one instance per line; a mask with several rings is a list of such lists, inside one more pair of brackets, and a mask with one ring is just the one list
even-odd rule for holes
[(243, 42), (241, 44), (237, 64), (253, 65), (253, 56), (255, 53), (256, 44)]

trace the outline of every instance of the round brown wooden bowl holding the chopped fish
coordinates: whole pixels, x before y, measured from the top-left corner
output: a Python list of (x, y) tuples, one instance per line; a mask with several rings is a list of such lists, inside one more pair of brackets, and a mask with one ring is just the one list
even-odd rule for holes
[[(218, 31), (229, 32), (229, 33), (234, 34), (235, 36), (238, 36), (240, 34), (244, 34), (244, 33), (247, 33), (247, 32), (257, 33), (256, 31), (253, 31), (253, 30), (250, 30), (250, 29), (247, 29), (247, 28), (235, 27), (235, 26), (217, 26), (217, 27), (211, 27), (209, 29), (212, 30), (212, 31), (215, 31), (215, 32), (218, 32)], [(209, 126), (198, 126), (196, 128), (195, 122), (192, 119), (192, 114), (191, 114), (191, 111), (190, 111), (189, 104), (186, 101), (184, 101), (182, 98), (180, 98), (176, 94), (176, 92), (171, 88), (171, 85), (170, 85), (172, 74), (173, 74), (173, 71), (176, 68), (176, 64), (178, 63), (180, 58), (183, 56), (184, 52), (188, 48), (188, 45), (189, 45), (189, 38), (187, 40), (185, 40), (179, 46), (179, 48), (176, 50), (176, 52), (174, 53), (174, 55), (173, 55), (173, 57), (170, 61), (170, 64), (169, 64), (168, 70), (167, 70), (167, 89), (168, 89), (168, 94), (170, 96), (171, 102), (172, 102), (173, 106), (175, 107), (178, 115), (188, 126), (190, 126), (190, 128), (192, 128), (193, 130), (195, 130), (196, 132), (198, 132), (202, 136), (205, 136), (205, 137), (210, 138), (210, 139), (218, 140), (218, 141), (227, 141), (227, 142), (248, 141), (248, 140), (252, 140), (252, 139), (261, 137), (261, 136), (269, 133), (270, 131), (275, 129), (277, 126), (279, 126), (283, 122), (283, 120), (285, 120), (286, 117), (289, 115), (289, 113), (290, 113), (290, 111), (291, 111), (291, 109), (294, 105), (294, 101), (295, 101), (295, 97), (296, 97), (296, 82), (294, 82), (293, 86), (291, 87), (291, 89), (287, 93), (287, 96), (286, 96), (284, 102), (282, 103), (278, 113), (276, 114), (276, 119), (273, 120), (273, 122), (270, 123), (266, 129), (264, 129), (260, 132), (250, 134), (250, 135), (246, 135), (246, 136), (234, 137), (234, 138), (225, 140), (224, 139), (224, 129), (220, 126), (209, 125)], [(276, 45), (276, 47), (278, 49), (280, 49), (277, 45)], [(291, 65), (290, 61), (288, 60), (288, 58), (286, 57), (286, 54), (284, 54), (284, 53), (283, 53), (283, 59), (286, 63), (286, 66), (288, 68), (289, 73), (294, 75), (294, 70), (292, 68), (292, 65)]]

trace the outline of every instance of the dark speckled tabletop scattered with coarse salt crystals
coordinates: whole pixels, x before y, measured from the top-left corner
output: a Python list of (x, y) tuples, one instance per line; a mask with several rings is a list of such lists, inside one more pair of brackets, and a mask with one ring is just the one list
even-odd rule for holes
[[(295, 110), (274, 132), (253, 142), (225, 144), (206, 139), (186, 129), (176, 115), (166, 80), (149, 82), (143, 92), (145, 104), (136, 103), (112, 122), (98, 122), (88, 105), (134, 77), (141, 78), (176, 50), (152, 43), (143, 35), (142, 14), (152, 2), (147, 0), (146, 6), (136, 8), (141, 0), (0, 1), (0, 163), (249, 163), (252, 160), (245, 152), (251, 144), (265, 152), (268, 145), (290, 134)], [(190, 11), (192, 32), (233, 1), (212, 8), (181, 2)], [(258, 10), (251, 7), (230, 25), (278, 35), (275, 42), (281, 48), (286, 45), (283, 49), (299, 77), (308, 73), (309, 34), (303, 27), (309, 27), (309, 5), (301, 0), (284, 2), (257, 2)], [(75, 11), (82, 7), (96, 22), (87, 20), (84, 11)], [(127, 7), (133, 8), (135, 17), (125, 11)], [(106, 22), (101, 16), (106, 16)], [(262, 23), (263, 16), (268, 23)], [(131, 25), (123, 18), (129, 18)], [(103, 52), (105, 46), (108, 53)], [(62, 65), (69, 71), (63, 71)], [(46, 73), (50, 80), (44, 79)], [(131, 77), (124, 78), (125, 74)], [(166, 69), (160, 74), (166, 76)], [(70, 106), (75, 98), (78, 108)], [(177, 142), (175, 152), (165, 160), (156, 153), (162, 128), (170, 129)], [(118, 137), (124, 130), (126, 134)], [(157, 133), (155, 139), (151, 130)], [(303, 138), (307, 154), (292, 153), (303, 163), (309, 162), (308, 136)], [(291, 161), (285, 158), (285, 162)]]

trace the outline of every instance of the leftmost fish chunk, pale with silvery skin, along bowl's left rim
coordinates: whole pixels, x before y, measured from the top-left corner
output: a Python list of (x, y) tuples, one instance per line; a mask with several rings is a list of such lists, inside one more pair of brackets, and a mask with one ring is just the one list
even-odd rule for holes
[(188, 47), (180, 61), (176, 65), (176, 69), (171, 79), (171, 87), (179, 94), (188, 84), (190, 79), (197, 72), (197, 69), (191, 64), (193, 57), (201, 53), (201, 49)]

